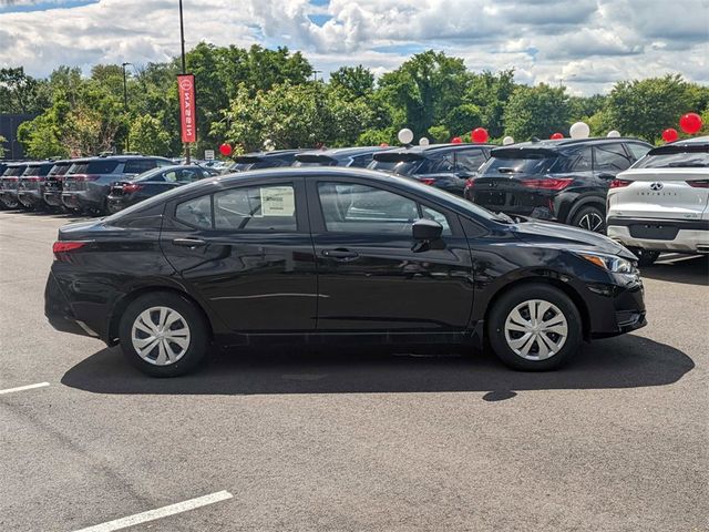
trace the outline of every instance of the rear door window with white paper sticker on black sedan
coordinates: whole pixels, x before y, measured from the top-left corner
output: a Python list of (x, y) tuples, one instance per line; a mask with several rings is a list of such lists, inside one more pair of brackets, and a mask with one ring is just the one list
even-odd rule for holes
[(233, 188), (214, 195), (217, 229), (297, 231), (291, 185)]

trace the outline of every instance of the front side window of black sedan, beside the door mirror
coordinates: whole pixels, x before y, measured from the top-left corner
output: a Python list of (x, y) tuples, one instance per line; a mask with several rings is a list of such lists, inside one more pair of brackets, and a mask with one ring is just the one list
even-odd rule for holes
[(444, 234), (451, 231), (442, 213), (381, 188), (357, 183), (318, 183), (318, 195), (328, 232), (408, 236), (411, 225), (421, 217), (439, 222)]

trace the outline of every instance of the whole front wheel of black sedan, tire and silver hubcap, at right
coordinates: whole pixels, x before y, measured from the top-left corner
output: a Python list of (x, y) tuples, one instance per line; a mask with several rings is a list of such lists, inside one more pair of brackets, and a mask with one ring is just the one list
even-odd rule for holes
[(507, 366), (531, 371), (557, 368), (578, 350), (582, 319), (558, 288), (543, 284), (513, 288), (490, 313), (487, 336)]

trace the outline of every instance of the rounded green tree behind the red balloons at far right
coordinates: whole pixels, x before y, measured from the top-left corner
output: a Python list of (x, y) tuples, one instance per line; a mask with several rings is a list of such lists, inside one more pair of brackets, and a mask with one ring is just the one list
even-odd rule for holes
[(657, 142), (662, 130), (677, 127), (679, 117), (693, 110), (698, 95), (679, 74), (620, 81), (608, 94), (608, 124), (624, 135)]

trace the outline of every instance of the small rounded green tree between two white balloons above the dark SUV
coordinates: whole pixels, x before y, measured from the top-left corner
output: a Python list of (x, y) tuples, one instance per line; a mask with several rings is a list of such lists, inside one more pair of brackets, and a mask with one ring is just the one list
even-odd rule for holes
[(541, 83), (517, 86), (505, 106), (505, 133), (517, 142), (534, 136), (548, 139), (568, 129), (571, 109), (563, 88)]

